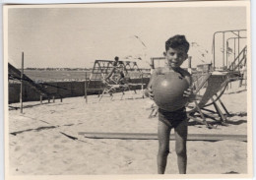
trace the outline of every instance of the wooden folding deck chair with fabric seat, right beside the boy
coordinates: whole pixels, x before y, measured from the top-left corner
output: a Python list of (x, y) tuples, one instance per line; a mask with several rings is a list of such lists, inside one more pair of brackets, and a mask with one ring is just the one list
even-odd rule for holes
[[(208, 128), (212, 128), (212, 126), (206, 121), (206, 117), (226, 125), (226, 117), (230, 114), (224, 106), (221, 96), (228, 83), (234, 81), (236, 77), (232, 77), (230, 73), (209, 73), (202, 79), (200, 86), (194, 92), (196, 94), (196, 99), (192, 102), (194, 106), (191, 104), (187, 106), (188, 118), (205, 124)], [(199, 91), (204, 88), (204, 94), (199, 94)], [(213, 106), (214, 110), (209, 109), (210, 106)]]

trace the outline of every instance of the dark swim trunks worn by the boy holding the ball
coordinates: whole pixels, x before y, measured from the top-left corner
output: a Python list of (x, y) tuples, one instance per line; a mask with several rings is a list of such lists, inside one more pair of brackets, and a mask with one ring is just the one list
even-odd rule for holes
[(159, 120), (170, 128), (176, 128), (179, 123), (187, 120), (187, 113), (185, 107), (182, 107), (173, 112), (159, 109)]

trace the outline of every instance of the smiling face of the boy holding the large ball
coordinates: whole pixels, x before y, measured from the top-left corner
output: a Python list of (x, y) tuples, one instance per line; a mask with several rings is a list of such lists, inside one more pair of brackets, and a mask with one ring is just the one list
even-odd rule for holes
[(187, 59), (188, 55), (184, 48), (168, 48), (166, 52), (163, 53), (167, 64), (171, 68), (179, 68), (182, 63)]

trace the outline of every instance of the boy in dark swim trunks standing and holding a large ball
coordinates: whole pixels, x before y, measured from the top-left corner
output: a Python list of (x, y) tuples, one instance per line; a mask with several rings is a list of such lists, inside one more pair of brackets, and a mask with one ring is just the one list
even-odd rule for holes
[[(180, 68), (182, 63), (188, 58), (189, 43), (184, 35), (175, 35), (170, 37), (165, 42), (165, 67), (158, 68), (151, 76), (148, 89), (145, 91), (146, 95), (154, 99), (152, 90), (152, 83), (154, 79), (166, 72), (176, 72), (184, 77), (191, 86), (191, 75)], [(183, 96), (191, 100), (194, 95), (191, 88), (185, 90)], [(187, 116), (185, 107), (175, 111), (166, 111), (159, 108), (159, 153), (158, 153), (158, 173), (163, 174), (167, 162), (167, 155), (169, 153), (169, 136), (170, 130), (174, 128), (175, 131), (175, 151), (177, 154), (178, 170), (180, 174), (186, 173), (187, 166), (187, 153), (186, 153), (186, 140), (187, 140)]]

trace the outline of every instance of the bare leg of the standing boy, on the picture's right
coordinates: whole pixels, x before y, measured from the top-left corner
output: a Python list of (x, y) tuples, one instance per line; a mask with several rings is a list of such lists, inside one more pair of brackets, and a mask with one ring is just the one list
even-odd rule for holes
[(177, 153), (178, 170), (180, 174), (186, 174), (187, 168), (187, 120), (183, 120), (175, 128), (175, 150)]

